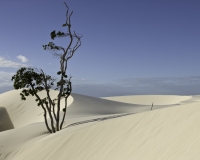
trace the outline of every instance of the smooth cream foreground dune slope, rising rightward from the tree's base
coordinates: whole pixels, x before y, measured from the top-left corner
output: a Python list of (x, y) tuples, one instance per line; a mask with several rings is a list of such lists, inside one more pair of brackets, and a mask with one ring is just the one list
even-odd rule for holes
[(85, 128), (65, 129), (9, 157), (16, 159), (200, 158), (200, 103), (120, 117)]

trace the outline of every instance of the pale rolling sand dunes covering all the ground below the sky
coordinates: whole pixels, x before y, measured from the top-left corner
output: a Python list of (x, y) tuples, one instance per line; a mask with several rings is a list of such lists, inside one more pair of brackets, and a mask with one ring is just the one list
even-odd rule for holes
[(49, 134), (35, 98), (19, 93), (0, 94), (0, 160), (200, 159), (200, 96), (72, 94), (64, 129)]

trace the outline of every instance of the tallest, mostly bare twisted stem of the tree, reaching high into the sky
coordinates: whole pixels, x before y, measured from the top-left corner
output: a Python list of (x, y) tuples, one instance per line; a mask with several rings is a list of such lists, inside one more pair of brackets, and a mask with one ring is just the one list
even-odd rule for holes
[[(59, 93), (57, 96), (57, 113), (55, 113), (55, 99), (52, 101), (51, 97), (49, 95), (49, 89), (52, 86), (52, 83), (55, 82), (54, 79), (51, 79), (50, 81), (48, 81), (48, 77), (43, 77), (44, 83), (42, 83), (43, 87), (46, 89), (47, 91), (47, 98), (49, 100), (49, 107), (50, 107), (50, 111), (53, 107), (53, 113), (54, 113), (54, 118), (56, 119), (56, 131), (59, 131), (60, 129), (62, 129), (62, 125), (63, 125), (63, 120), (65, 118), (65, 114), (64, 117), (61, 121), (60, 124), (60, 108), (61, 108), (61, 99), (65, 98), (65, 109), (67, 107), (67, 98), (69, 97), (69, 95), (71, 94), (72, 91), (72, 85), (71, 85), (71, 77), (69, 78), (69, 80), (67, 80), (67, 75), (66, 75), (66, 70), (67, 70), (67, 62), (70, 58), (73, 57), (75, 51), (81, 46), (81, 38), (82, 36), (79, 36), (76, 34), (76, 32), (72, 32), (71, 31), (71, 16), (73, 14), (73, 11), (69, 12), (69, 7), (68, 5), (64, 2), (64, 5), (66, 7), (66, 21), (65, 23), (62, 25), (63, 27), (66, 27), (67, 31), (66, 32), (62, 32), (62, 31), (58, 31), (56, 32), (55, 30), (53, 30), (50, 33), (51, 39), (54, 40), (54, 38), (63, 38), (63, 37), (68, 37), (69, 38), (69, 43), (67, 45), (66, 48), (62, 47), (62, 46), (58, 46), (55, 45), (53, 42), (49, 42), (49, 44), (47, 45), (43, 45), (43, 48), (45, 50), (50, 50), (52, 51), (53, 55), (55, 57), (59, 57), (60, 58), (60, 71), (57, 72), (58, 75), (60, 75), (60, 79), (57, 82), (57, 89), (59, 89)], [(75, 41), (75, 43), (74, 43)], [(63, 53), (58, 53), (58, 51), (61, 51)], [(44, 74), (44, 72), (43, 72)], [(48, 82), (47, 82), (48, 81)]]

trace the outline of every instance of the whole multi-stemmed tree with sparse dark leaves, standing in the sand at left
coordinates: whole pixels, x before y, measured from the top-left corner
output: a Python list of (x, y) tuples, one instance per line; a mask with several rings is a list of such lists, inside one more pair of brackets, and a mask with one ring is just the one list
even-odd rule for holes
[[(63, 127), (64, 119), (66, 116), (67, 110), (67, 99), (72, 91), (72, 83), (71, 77), (67, 76), (67, 63), (70, 58), (73, 57), (75, 51), (81, 46), (81, 37), (76, 34), (76, 32), (71, 31), (71, 16), (73, 11), (69, 13), (69, 7), (64, 2), (66, 11), (66, 22), (62, 25), (67, 28), (67, 32), (56, 32), (55, 30), (50, 33), (51, 39), (54, 40), (58, 37), (68, 37), (69, 44), (66, 48), (57, 46), (53, 42), (49, 42), (47, 45), (43, 45), (44, 50), (53, 51), (53, 55), (60, 58), (60, 70), (57, 74), (60, 76), (56, 86), (56, 90), (59, 90), (57, 98), (51, 99), (50, 97), (50, 88), (54, 85), (56, 81), (55, 78), (52, 78), (49, 75), (46, 75), (43, 70), (38, 70), (34, 68), (21, 68), (17, 71), (16, 75), (12, 77), (14, 80), (14, 88), (21, 89), (22, 93), (21, 99), (26, 100), (26, 96), (32, 95), (36, 97), (36, 101), (38, 101), (38, 106), (42, 106), (44, 110), (44, 119), (45, 124), (50, 133), (55, 133), (59, 131)], [(75, 42), (75, 43), (74, 43)], [(57, 53), (58, 51), (62, 51), (62, 53)], [(47, 97), (40, 98), (37, 94), (38, 92), (45, 90)], [(61, 111), (61, 99), (64, 98), (65, 106), (63, 108), (63, 117), (60, 121), (60, 111)], [(55, 112), (55, 107), (57, 107), (57, 112)], [(47, 114), (51, 120), (51, 125), (48, 124)], [(56, 123), (54, 123), (56, 122)], [(54, 125), (55, 124), (55, 125)], [(51, 127), (50, 127), (51, 126)]]

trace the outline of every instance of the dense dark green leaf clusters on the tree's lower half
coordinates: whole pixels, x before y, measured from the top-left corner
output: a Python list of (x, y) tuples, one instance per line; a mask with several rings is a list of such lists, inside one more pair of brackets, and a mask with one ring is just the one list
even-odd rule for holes
[[(62, 72), (59, 71), (58, 74), (60, 75)], [(70, 77), (71, 79), (71, 77)], [(60, 89), (61, 86), (63, 87), (63, 92), (61, 97), (67, 97), (71, 93), (71, 81), (67, 79), (67, 75), (64, 74), (63, 79), (57, 82), (57, 89)], [(17, 73), (12, 76), (12, 81), (14, 81), (14, 88), (15, 89), (23, 89), (20, 93), (21, 100), (26, 100), (26, 97), (32, 95), (36, 96), (38, 92), (42, 90), (49, 91), (49, 89), (54, 85), (55, 79), (49, 75), (44, 74), (44, 72), (38, 71), (34, 68), (21, 68), (17, 71)], [(57, 99), (52, 100), (52, 103), (55, 105), (55, 101)], [(48, 99), (46, 98), (36, 98), (35, 99), (38, 106), (45, 104), (49, 105)]]

